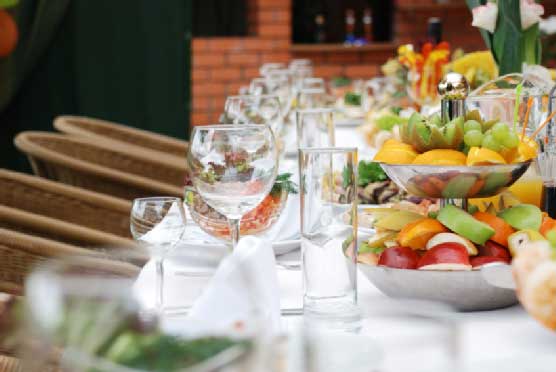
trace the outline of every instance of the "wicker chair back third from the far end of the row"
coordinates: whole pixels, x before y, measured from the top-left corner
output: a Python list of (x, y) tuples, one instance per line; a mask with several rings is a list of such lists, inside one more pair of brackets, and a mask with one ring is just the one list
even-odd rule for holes
[(128, 200), (0, 169), (0, 206), (130, 238)]

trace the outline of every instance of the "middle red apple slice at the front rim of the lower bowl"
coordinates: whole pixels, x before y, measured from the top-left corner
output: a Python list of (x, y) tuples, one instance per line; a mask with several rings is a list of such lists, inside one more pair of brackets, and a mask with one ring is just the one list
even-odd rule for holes
[(417, 264), (419, 270), (471, 270), (467, 248), (459, 243), (442, 243), (429, 249)]

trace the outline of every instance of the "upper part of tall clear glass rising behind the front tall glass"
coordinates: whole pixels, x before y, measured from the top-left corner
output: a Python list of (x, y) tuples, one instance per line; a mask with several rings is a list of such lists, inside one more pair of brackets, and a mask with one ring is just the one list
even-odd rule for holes
[(297, 147), (334, 147), (334, 109), (296, 111)]

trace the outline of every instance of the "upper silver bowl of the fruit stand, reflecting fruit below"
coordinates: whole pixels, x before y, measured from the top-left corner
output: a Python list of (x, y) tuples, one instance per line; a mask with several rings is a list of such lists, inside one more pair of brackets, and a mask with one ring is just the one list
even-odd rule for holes
[(388, 177), (408, 193), (435, 199), (495, 196), (521, 177), (531, 161), (484, 166), (380, 163)]

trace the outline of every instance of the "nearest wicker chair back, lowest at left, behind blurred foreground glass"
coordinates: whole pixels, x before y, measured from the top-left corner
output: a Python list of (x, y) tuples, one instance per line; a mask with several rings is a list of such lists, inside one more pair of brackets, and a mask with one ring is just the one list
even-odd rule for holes
[(140, 271), (138, 266), (107, 259), (100, 252), (0, 228), (0, 291), (22, 295), (25, 277), (35, 265), (64, 256), (89, 257), (91, 267), (117, 275), (134, 277)]

